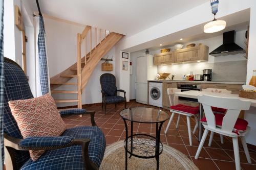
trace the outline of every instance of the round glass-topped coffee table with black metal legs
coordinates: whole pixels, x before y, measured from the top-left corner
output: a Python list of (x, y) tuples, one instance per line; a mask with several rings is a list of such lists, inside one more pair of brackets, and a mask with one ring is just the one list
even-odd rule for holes
[[(159, 169), (159, 156), (163, 152), (163, 144), (160, 141), (160, 132), (163, 123), (169, 119), (169, 115), (159, 109), (147, 107), (134, 107), (123, 109), (120, 112), (125, 125), (125, 169), (127, 169), (127, 155), (138, 158), (156, 158)], [(128, 136), (127, 122), (131, 122), (131, 135)], [(133, 134), (133, 123), (156, 124), (156, 137), (147, 134)], [(151, 128), (148, 128), (151, 131)]]

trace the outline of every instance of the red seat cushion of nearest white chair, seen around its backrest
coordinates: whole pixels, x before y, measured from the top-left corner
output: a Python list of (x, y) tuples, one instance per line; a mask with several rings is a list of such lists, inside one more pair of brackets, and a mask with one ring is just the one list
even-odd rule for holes
[[(214, 115), (215, 115), (216, 125), (221, 128), (222, 120), (223, 120), (223, 117), (225, 116), (225, 114), (214, 113)], [(202, 123), (207, 123), (206, 117), (203, 117), (200, 121)], [(248, 122), (245, 119), (238, 118), (236, 124), (234, 124), (233, 132), (238, 134), (239, 131), (245, 131), (247, 128), (247, 125), (248, 125)]]

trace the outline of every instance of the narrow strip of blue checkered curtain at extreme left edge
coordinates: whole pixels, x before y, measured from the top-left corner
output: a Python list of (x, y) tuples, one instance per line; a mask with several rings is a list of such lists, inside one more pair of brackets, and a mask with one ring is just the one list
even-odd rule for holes
[[(3, 168), (4, 164), (4, 130), (3, 130), (3, 119), (4, 119), (4, 0), (0, 1), (0, 169)], [(2, 154), (1, 154), (2, 153)], [(2, 158), (1, 158), (2, 157)]]

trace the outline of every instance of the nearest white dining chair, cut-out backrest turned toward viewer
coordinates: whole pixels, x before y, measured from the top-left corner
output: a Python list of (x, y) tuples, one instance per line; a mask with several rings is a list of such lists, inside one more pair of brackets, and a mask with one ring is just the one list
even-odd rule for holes
[[(203, 105), (205, 117), (201, 119), (201, 122), (203, 123), (205, 130), (195, 159), (198, 159), (199, 157), (208, 131), (213, 131), (215, 133), (232, 137), (234, 160), (236, 162), (237, 170), (240, 170), (238, 137), (241, 138), (247, 161), (248, 163), (251, 163), (249, 151), (244, 138), (245, 134), (247, 134), (250, 130), (250, 127), (248, 126), (246, 120), (238, 118), (241, 110), (249, 110), (250, 101), (242, 101), (238, 98), (223, 98), (212, 95), (202, 95), (198, 96), (198, 102)], [(225, 115), (214, 113), (211, 109), (212, 106), (225, 108), (227, 109), (227, 112)]]

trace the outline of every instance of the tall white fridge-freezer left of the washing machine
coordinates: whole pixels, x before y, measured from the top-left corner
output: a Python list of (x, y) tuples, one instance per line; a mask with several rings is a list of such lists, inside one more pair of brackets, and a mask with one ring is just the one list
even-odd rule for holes
[(153, 56), (145, 55), (136, 61), (136, 102), (147, 104), (147, 81), (156, 80), (157, 66), (153, 64)]

